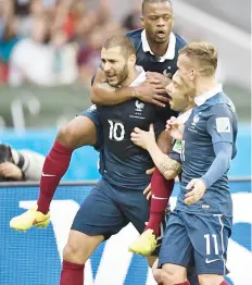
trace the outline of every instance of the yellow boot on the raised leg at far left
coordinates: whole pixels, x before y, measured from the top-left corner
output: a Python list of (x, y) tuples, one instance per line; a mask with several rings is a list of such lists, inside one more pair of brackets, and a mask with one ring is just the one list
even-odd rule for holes
[(17, 231), (27, 231), (33, 226), (47, 227), (50, 223), (50, 212), (43, 214), (37, 211), (37, 206), (10, 221), (10, 227)]

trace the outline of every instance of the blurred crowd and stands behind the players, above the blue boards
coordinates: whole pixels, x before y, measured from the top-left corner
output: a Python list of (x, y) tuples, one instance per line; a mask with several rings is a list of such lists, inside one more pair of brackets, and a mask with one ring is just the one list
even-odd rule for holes
[[(250, 0), (174, 0), (174, 32), (219, 49), (218, 76), (250, 121)], [(140, 28), (141, 0), (1, 0), (0, 128), (58, 126), (90, 104), (111, 35)]]

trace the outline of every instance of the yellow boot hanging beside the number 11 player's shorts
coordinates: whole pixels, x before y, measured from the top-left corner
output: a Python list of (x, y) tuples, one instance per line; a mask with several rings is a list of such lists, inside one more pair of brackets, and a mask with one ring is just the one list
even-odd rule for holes
[(156, 248), (156, 237), (153, 230), (148, 228), (144, 231), (133, 244), (129, 246), (129, 251), (141, 255), (150, 256)]

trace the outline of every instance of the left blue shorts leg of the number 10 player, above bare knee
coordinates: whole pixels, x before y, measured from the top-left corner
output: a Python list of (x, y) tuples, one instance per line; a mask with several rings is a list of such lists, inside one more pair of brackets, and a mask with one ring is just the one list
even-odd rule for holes
[(89, 236), (104, 236), (118, 233), (126, 224), (124, 215), (114, 203), (110, 185), (101, 179), (80, 206), (72, 230)]

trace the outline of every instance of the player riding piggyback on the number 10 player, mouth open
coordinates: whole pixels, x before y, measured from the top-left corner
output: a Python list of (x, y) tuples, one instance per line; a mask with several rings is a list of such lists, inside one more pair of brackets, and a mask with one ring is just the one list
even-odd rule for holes
[[(147, 75), (149, 79), (134, 87), (112, 88), (104, 83), (106, 76), (101, 66), (98, 69), (91, 94), (92, 101), (98, 106), (118, 104), (133, 98), (163, 107), (167, 102), (167, 98), (159, 94), (164, 91), (172, 75), (176, 72), (178, 50), (186, 42), (180, 36), (172, 33), (173, 7), (169, 0), (143, 0), (141, 20), (144, 28), (129, 32), (127, 35), (134, 41), (137, 50), (137, 64), (152, 72)], [(37, 208), (26, 211), (18, 219), (13, 219), (10, 223), (11, 227), (28, 230), (32, 226), (48, 225), (50, 202), (60, 179), (70, 165), (74, 149), (85, 145), (99, 148), (103, 144), (99, 112), (99, 108), (93, 106), (60, 131), (46, 158)], [(160, 110), (160, 112), (164, 113), (165, 120), (167, 117), (166, 109), (163, 108), (163, 111)], [(165, 141), (163, 150), (168, 151), (167, 147), (168, 144)], [(156, 188), (156, 197), (167, 196), (167, 188), (172, 193), (173, 183), (173, 181), (166, 182), (163, 175), (155, 171), (152, 177), (152, 190)], [(154, 231), (155, 236), (160, 234), (160, 221), (163, 219), (160, 201), (151, 200), (151, 219), (147, 226)]]

